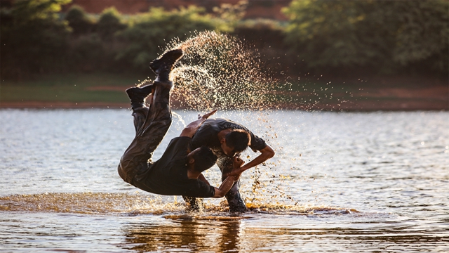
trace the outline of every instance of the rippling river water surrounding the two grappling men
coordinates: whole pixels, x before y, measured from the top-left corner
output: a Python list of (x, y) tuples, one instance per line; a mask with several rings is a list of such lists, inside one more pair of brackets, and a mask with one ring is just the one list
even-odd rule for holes
[[(155, 159), (196, 114), (175, 111)], [(449, 252), (449, 112), (217, 117), (276, 151), (242, 175), (245, 214), (123, 182), (128, 110), (0, 110), (0, 251)]]

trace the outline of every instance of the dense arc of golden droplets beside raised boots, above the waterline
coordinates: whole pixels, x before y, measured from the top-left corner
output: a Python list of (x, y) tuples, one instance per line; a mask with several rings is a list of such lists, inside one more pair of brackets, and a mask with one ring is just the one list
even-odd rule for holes
[(186, 41), (173, 40), (167, 51), (182, 48), (175, 66), (173, 100), (182, 108), (264, 110), (273, 107), (275, 80), (261, 71), (262, 60), (248, 46), (225, 34), (201, 32)]

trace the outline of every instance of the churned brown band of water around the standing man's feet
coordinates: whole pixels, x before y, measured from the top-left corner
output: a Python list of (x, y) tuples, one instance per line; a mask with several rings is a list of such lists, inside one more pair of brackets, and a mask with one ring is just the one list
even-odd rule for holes
[[(355, 209), (326, 206), (300, 206), (276, 204), (248, 204), (246, 214), (351, 214)], [(225, 202), (218, 205), (205, 203), (201, 212), (189, 211), (187, 205), (177, 198), (147, 194), (125, 193), (41, 193), (30, 195), (9, 195), (0, 197), (1, 212), (57, 212), (77, 214), (165, 215), (168, 219), (243, 219), (230, 218)], [(186, 218), (187, 217), (187, 218)]]

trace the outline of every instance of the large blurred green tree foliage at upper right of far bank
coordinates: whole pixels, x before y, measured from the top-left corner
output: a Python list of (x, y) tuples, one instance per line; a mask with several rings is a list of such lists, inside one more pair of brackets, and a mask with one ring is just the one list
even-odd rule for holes
[[(307, 66), (447, 72), (448, 1), (292, 1), (286, 42)], [(429, 69), (429, 68), (427, 68)]]

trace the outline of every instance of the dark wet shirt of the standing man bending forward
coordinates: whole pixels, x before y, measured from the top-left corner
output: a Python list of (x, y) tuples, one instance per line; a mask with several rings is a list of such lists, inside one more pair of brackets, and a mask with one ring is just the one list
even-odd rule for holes
[(220, 140), (218, 139), (218, 133), (225, 129), (242, 129), (247, 131), (251, 136), (250, 148), (255, 152), (256, 150), (262, 150), (267, 147), (267, 143), (262, 138), (259, 138), (245, 126), (237, 124), (229, 119), (206, 119), (206, 121), (199, 127), (190, 143), (190, 149), (194, 150), (205, 145), (212, 150), (221, 150)]

